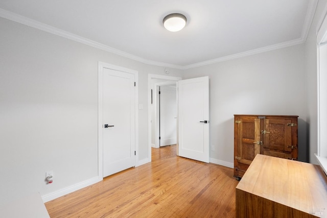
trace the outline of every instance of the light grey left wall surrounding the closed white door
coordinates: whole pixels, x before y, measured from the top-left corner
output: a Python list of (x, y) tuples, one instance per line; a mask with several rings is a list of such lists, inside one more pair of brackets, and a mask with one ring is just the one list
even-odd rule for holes
[[(95, 181), (98, 61), (138, 70), (138, 159), (148, 159), (150, 66), (0, 18), (0, 205)], [(181, 71), (170, 69), (170, 75)], [(54, 172), (46, 185), (45, 172)]]

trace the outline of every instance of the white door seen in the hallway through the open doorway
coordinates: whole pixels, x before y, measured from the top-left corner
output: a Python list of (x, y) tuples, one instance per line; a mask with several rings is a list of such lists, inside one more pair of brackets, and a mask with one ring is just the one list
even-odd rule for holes
[(160, 86), (160, 146), (176, 144), (177, 100), (176, 84)]

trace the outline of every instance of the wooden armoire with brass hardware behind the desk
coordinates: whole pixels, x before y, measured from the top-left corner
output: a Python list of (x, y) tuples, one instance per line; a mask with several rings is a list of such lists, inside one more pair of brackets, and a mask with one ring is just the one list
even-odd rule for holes
[(234, 177), (243, 177), (255, 155), (297, 160), (297, 117), (234, 115)]

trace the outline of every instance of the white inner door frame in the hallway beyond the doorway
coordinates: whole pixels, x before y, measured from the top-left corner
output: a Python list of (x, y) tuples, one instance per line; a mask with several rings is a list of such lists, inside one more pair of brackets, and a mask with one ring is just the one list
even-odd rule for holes
[[(159, 87), (160, 86), (165, 86), (165, 85), (176, 85), (176, 109), (177, 109), (177, 81), (165, 81), (165, 82), (159, 82), (159, 83), (155, 83), (155, 93), (152, 93), (152, 99), (153, 99), (153, 104), (155, 104), (155, 110), (154, 110), (154, 120), (152, 120), (152, 122), (154, 121), (154, 126), (155, 126), (155, 133), (154, 133), (154, 144), (155, 144), (155, 148), (159, 148), (160, 144), (159, 144), (159, 119), (160, 119), (160, 114), (159, 114), (159, 105), (158, 105), (158, 98), (159, 98)], [(177, 114), (176, 114), (177, 116)], [(177, 125), (177, 119), (176, 119), (176, 125)], [(177, 128), (177, 126), (176, 126)], [(152, 130), (151, 130), (152, 131)], [(176, 135), (177, 137), (177, 135)]]

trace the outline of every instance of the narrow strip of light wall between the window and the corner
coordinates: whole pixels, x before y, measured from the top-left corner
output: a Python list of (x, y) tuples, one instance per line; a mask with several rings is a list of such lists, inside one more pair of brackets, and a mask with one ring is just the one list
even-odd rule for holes
[(323, 9), (327, 1), (318, 1), (316, 13), (311, 24), (308, 38), (305, 44), (306, 62), (306, 93), (307, 93), (307, 120), (308, 120), (308, 144), (310, 162), (318, 164), (314, 153), (317, 153), (317, 26), (320, 25)]

